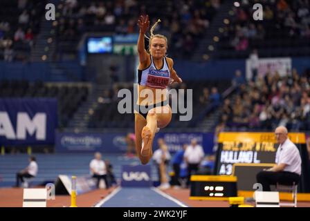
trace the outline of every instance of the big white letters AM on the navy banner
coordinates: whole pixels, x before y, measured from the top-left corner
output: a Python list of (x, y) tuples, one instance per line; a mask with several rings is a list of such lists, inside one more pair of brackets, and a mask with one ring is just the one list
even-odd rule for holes
[(8, 140), (26, 140), (27, 133), (37, 140), (46, 140), (46, 113), (36, 113), (30, 119), (28, 113), (17, 113), (16, 132), (7, 112), (0, 111), (0, 137)]

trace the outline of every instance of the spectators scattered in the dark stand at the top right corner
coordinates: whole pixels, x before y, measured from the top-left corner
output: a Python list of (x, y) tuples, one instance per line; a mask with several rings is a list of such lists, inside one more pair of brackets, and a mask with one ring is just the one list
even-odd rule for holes
[[(222, 39), (235, 50), (247, 50), (250, 44), (268, 39), (309, 39), (310, 4), (308, 0), (255, 1), (243, 0), (234, 7), (229, 23), (224, 27)], [(253, 5), (262, 3), (263, 20), (253, 20)]]

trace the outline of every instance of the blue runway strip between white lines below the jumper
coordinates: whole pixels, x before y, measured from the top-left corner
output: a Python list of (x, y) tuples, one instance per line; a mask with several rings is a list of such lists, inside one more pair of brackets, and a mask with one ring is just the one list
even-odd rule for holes
[(149, 188), (122, 188), (101, 207), (181, 207)]

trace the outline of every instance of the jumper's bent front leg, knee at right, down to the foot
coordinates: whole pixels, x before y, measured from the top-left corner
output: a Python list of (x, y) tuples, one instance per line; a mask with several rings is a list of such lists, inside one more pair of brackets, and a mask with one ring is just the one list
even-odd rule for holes
[(151, 159), (153, 155), (152, 146), (157, 128), (163, 128), (169, 124), (172, 117), (169, 105), (153, 108), (147, 113), (147, 125), (143, 127), (141, 137), (143, 147), (141, 155)]

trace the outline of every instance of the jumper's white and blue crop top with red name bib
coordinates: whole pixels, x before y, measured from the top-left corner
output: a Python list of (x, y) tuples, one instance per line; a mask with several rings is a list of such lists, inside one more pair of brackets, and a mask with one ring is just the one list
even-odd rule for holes
[(163, 67), (157, 69), (151, 55), (151, 64), (144, 70), (138, 70), (138, 84), (151, 88), (165, 89), (170, 80), (170, 70), (166, 57), (163, 57)]

